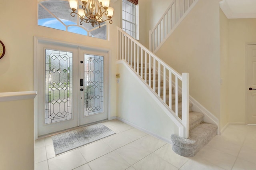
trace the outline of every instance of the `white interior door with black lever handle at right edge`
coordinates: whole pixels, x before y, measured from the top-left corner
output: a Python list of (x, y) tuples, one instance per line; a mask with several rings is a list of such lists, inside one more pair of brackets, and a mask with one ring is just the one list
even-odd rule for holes
[(247, 45), (247, 124), (256, 124), (256, 45)]

